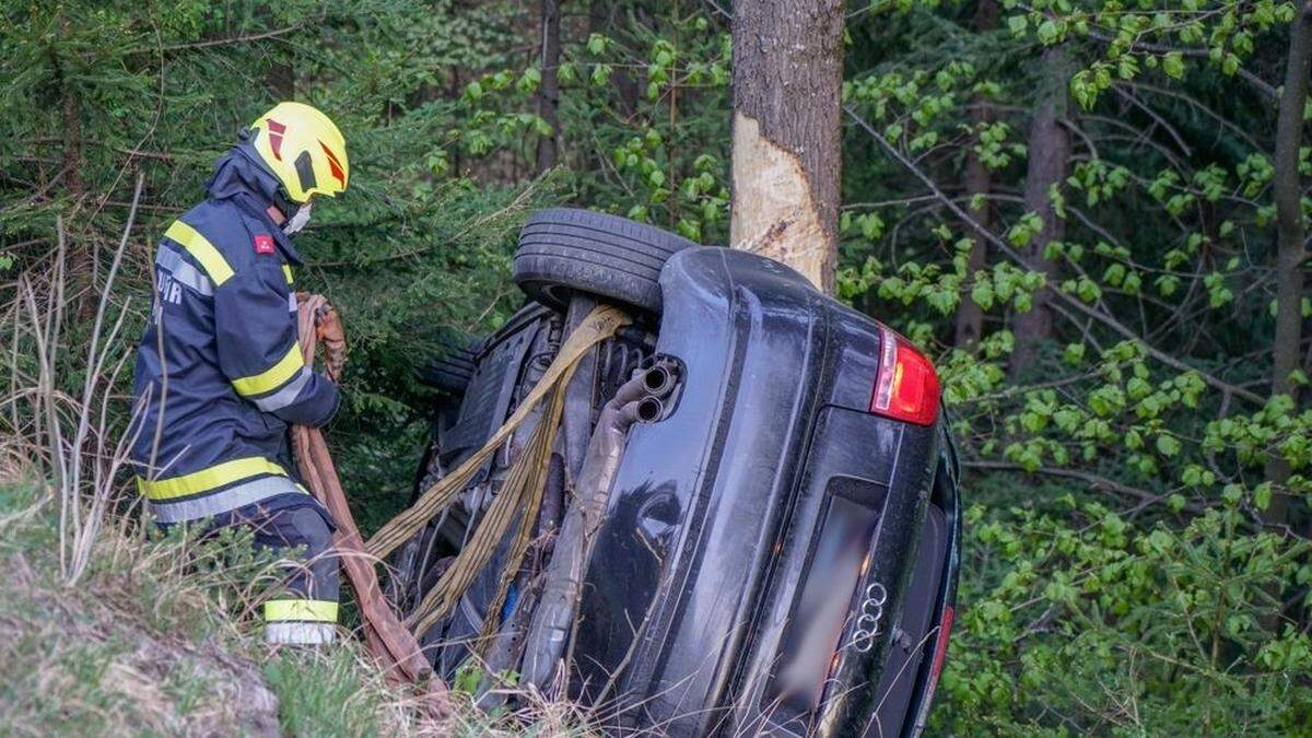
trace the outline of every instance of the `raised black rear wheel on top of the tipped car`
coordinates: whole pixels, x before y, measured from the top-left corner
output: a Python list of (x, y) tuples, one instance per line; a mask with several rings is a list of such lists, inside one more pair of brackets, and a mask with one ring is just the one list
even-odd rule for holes
[(533, 299), (563, 310), (585, 292), (660, 313), (660, 269), (695, 243), (617, 215), (552, 207), (520, 231), (514, 282)]

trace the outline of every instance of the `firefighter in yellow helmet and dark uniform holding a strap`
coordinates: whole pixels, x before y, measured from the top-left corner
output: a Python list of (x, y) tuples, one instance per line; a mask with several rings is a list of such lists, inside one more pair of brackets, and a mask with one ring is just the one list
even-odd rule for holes
[(287, 425), (328, 423), (338, 391), (300, 356), (289, 236), (349, 176), (321, 112), (279, 102), (260, 116), (215, 163), (206, 200), (164, 231), (136, 353), (133, 461), (155, 521), (249, 525), (257, 545), (304, 549), (290, 595), (264, 605), (273, 643), (336, 636), (333, 524), (291, 473)]

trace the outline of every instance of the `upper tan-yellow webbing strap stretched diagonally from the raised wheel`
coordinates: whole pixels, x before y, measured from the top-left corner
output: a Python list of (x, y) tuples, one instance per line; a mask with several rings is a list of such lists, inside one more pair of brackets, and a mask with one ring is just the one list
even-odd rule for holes
[[(586, 318), (575, 328), (569, 337), (565, 339), (564, 345), (560, 347), (560, 352), (556, 353), (556, 358), (547, 366), (546, 373), (535, 387), (529, 393), (520, 407), (510, 415), (510, 418), (497, 429), (496, 433), (483, 445), (474, 456), (464, 460), (464, 464), (455, 467), (454, 471), (440, 479), (432, 487), (429, 487), (420, 498), (415, 502), (409, 510), (405, 510), (396, 517), (391, 519), (384, 524), (371, 538), (365, 544), (365, 549), (370, 555), (379, 559), (387, 557), (387, 554), (396, 550), (398, 546), (409, 540), (411, 536), (417, 533), (428, 521), (434, 516), (440, 515), (446, 507), (462, 492), (464, 486), (474, 477), (474, 474), (483, 466), (510, 433), (518, 428), (533, 408), (537, 407), (542, 398), (547, 397), (556, 386), (564, 386), (564, 381), (568, 380), (569, 374), (573, 373), (575, 366), (579, 364), (593, 345), (601, 343), (602, 340), (615, 335), (615, 331), (621, 326), (628, 324), (630, 318), (623, 311), (617, 307), (602, 305), (596, 307)], [(554, 425), (554, 423), (552, 423)], [(530, 454), (521, 454), (521, 458)], [(541, 485), (539, 485), (541, 487)], [(509, 504), (509, 503), (508, 503)], [(493, 507), (496, 503), (493, 503)], [(491, 517), (491, 510), (488, 516)], [(464, 553), (462, 552), (461, 557)], [(459, 558), (457, 559), (457, 565)], [(454, 567), (455, 565), (453, 565)]]

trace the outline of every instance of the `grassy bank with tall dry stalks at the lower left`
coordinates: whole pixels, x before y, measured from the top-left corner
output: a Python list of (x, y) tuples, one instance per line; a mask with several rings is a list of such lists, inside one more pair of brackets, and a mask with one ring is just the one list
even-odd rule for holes
[(198, 542), (140, 525), (125, 469), (123, 336), (147, 305), (115, 289), (125, 257), (148, 251), (127, 248), (131, 225), (97, 246), (110, 267), (91, 284), (71, 284), (68, 253), (79, 250), (63, 223), (49, 257), (0, 284), (0, 731), (586, 734), (581, 709), (530, 693), (514, 695), (517, 709), (484, 713), (458, 692), (457, 714), (434, 722), (350, 638), (270, 650), (258, 604), (293, 562), (256, 555), (248, 534)]

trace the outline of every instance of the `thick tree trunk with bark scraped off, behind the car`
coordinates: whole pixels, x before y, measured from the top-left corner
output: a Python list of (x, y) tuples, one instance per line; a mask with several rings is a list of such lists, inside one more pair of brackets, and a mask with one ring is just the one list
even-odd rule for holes
[(729, 243), (833, 292), (842, 0), (733, 4)]

